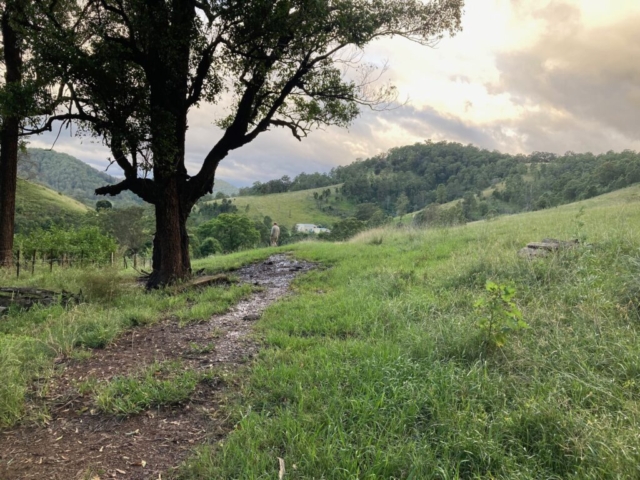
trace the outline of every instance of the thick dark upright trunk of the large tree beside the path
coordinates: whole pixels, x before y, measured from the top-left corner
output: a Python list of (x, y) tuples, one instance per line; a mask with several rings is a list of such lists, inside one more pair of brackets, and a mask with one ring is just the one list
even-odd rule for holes
[(162, 193), (155, 202), (154, 265), (147, 288), (168, 285), (191, 275), (187, 218), (193, 202), (185, 191), (188, 175), (184, 155), (190, 36), (195, 18), (193, 2), (175, 2), (170, 13), (154, 13), (153, 28), (149, 32), (155, 46), (146, 68), (150, 84), (153, 176)]

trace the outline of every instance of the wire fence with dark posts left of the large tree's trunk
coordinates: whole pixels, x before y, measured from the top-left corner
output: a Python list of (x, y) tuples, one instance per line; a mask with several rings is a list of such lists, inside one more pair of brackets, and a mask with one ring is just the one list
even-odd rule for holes
[(54, 268), (85, 268), (89, 266), (98, 267), (109, 265), (111, 267), (119, 266), (125, 270), (128, 268), (138, 270), (139, 268), (144, 269), (147, 266), (151, 267), (151, 259), (146, 255), (139, 255), (137, 253), (121, 255), (110, 252), (106, 254), (104, 258), (96, 258), (95, 256), (85, 255), (84, 252), (23, 252), (18, 250), (13, 254), (13, 265), (16, 269), (16, 277), (20, 278), (20, 275), (26, 274), (53, 273)]

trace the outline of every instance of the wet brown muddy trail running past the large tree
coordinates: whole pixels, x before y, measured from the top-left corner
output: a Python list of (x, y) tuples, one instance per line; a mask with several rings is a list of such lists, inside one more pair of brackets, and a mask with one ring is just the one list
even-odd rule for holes
[[(167, 478), (197, 444), (220, 439), (232, 427), (220, 408), (230, 387), (219, 373), (256, 354), (259, 344), (250, 335), (255, 321), (298, 274), (313, 267), (273, 255), (234, 272), (240, 282), (263, 289), (227, 313), (182, 327), (167, 320), (136, 328), (93, 350), (90, 358), (63, 362), (47, 390), (47, 425), (0, 431), (0, 480)], [(166, 360), (216, 373), (187, 402), (125, 418), (99, 412), (93, 396), (79, 389), (87, 380), (106, 382)]]

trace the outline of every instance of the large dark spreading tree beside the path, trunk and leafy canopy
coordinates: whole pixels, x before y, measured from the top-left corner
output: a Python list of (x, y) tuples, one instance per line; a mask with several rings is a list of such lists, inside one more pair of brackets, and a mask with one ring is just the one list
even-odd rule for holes
[[(381, 37), (430, 45), (460, 29), (463, 0), (84, 0), (72, 15), (38, 0), (33, 21), (43, 62), (73, 84), (74, 119), (104, 138), (119, 184), (156, 212), (150, 286), (190, 273), (186, 220), (212, 191), (229, 152), (273, 128), (301, 140), (314, 127), (348, 125), (374, 88), (362, 49)], [(223, 104), (222, 134), (200, 170), (185, 166), (189, 110)], [(213, 134), (214, 132), (212, 132)]]

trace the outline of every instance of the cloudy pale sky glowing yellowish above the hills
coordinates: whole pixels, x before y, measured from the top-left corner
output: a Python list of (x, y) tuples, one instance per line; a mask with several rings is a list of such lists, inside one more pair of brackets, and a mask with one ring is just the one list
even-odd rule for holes
[[(640, 0), (467, 0), (463, 31), (436, 47), (376, 41), (364, 60), (388, 68), (395, 108), (299, 142), (275, 129), (231, 152), (217, 176), (236, 186), (327, 172), (402, 145), (474, 144), (508, 153), (640, 150)], [(189, 116), (195, 174), (221, 131), (216, 106)], [(57, 132), (30, 140), (51, 148)], [(104, 170), (99, 140), (62, 131), (55, 150)], [(114, 176), (121, 172), (108, 170)]]

